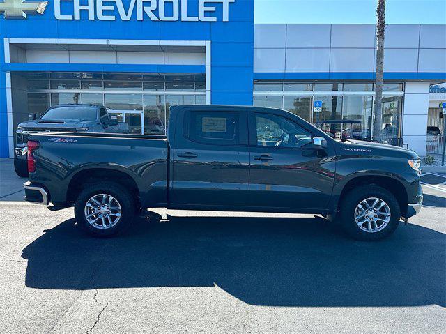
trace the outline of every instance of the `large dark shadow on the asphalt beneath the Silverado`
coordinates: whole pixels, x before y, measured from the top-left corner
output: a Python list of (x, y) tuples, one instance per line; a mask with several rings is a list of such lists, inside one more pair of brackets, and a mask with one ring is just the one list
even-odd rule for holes
[(362, 243), (319, 218), (236, 217), (141, 219), (98, 239), (66, 220), (22, 257), (38, 289), (218, 286), (252, 305), (446, 306), (445, 240), (411, 224)]

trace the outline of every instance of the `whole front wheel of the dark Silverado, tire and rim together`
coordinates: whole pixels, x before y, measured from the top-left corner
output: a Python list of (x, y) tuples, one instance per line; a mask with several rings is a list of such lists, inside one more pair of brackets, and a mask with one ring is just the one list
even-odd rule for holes
[(397, 229), (401, 211), (388, 190), (378, 185), (361, 185), (342, 199), (340, 215), (344, 230), (353, 238), (376, 241)]

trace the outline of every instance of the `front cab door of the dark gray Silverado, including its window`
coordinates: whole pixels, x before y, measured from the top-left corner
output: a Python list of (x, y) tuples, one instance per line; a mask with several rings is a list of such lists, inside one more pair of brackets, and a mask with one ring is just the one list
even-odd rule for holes
[[(293, 115), (291, 115), (293, 116)], [(334, 183), (334, 148), (312, 144), (311, 127), (284, 112), (249, 111), (252, 206), (314, 212), (324, 209)]]

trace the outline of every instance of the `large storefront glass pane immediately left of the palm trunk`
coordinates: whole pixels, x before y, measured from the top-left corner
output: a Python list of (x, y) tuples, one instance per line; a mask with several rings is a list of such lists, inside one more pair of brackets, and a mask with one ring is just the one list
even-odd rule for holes
[[(344, 96), (344, 106), (342, 119), (351, 121), (361, 121), (362, 140), (371, 138), (371, 109), (373, 98), (371, 96)], [(348, 128), (350, 128), (348, 126)], [(343, 129), (344, 130), (344, 129)]]

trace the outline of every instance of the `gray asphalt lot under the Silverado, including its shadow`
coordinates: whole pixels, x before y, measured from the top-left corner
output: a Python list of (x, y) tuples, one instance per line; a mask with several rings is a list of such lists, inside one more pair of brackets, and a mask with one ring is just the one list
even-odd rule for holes
[(376, 243), (312, 215), (164, 209), (98, 239), (23, 202), (1, 160), (0, 333), (444, 333), (446, 191), (424, 179), (420, 215)]

